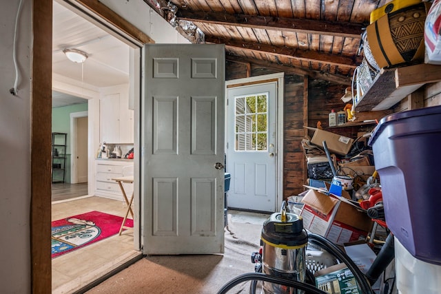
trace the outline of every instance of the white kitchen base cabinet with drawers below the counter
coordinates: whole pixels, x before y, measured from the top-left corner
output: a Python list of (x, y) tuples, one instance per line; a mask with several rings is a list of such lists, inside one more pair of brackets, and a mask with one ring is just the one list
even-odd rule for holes
[[(123, 200), (123, 193), (118, 183), (112, 178), (133, 175), (133, 160), (97, 159), (95, 176), (95, 195)], [(133, 192), (133, 184), (123, 184), (127, 197)]]

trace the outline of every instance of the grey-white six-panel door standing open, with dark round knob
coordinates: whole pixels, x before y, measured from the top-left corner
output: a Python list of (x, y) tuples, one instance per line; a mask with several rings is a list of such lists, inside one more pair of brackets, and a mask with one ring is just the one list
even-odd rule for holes
[(223, 253), (223, 45), (145, 47), (143, 252)]

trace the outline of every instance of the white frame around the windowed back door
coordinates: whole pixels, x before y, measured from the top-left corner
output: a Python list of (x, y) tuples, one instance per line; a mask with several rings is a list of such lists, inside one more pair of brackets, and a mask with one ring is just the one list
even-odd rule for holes
[[(252, 76), (250, 78), (237, 78), (234, 80), (225, 81), (225, 138), (228, 136), (228, 89), (234, 87), (243, 87), (245, 85), (258, 85), (260, 83), (267, 83), (270, 81), (276, 82), (276, 207), (280, 207), (283, 202), (283, 101), (285, 101), (284, 93), (284, 76), (285, 73), (279, 72), (276, 74), (265, 74), (262, 76)], [(225, 140), (225, 150), (227, 150), (227, 140)], [(227, 158), (228, 165), (228, 158)]]

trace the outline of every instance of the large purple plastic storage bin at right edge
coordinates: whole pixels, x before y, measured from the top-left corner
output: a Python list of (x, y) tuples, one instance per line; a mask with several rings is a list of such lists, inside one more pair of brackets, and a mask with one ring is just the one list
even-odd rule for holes
[(415, 258), (441, 264), (441, 106), (382, 118), (369, 145), (387, 226)]

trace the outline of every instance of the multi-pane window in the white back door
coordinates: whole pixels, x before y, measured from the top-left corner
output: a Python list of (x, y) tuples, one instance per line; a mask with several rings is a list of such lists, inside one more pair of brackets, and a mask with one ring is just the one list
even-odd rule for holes
[(234, 97), (236, 151), (267, 151), (268, 93)]

